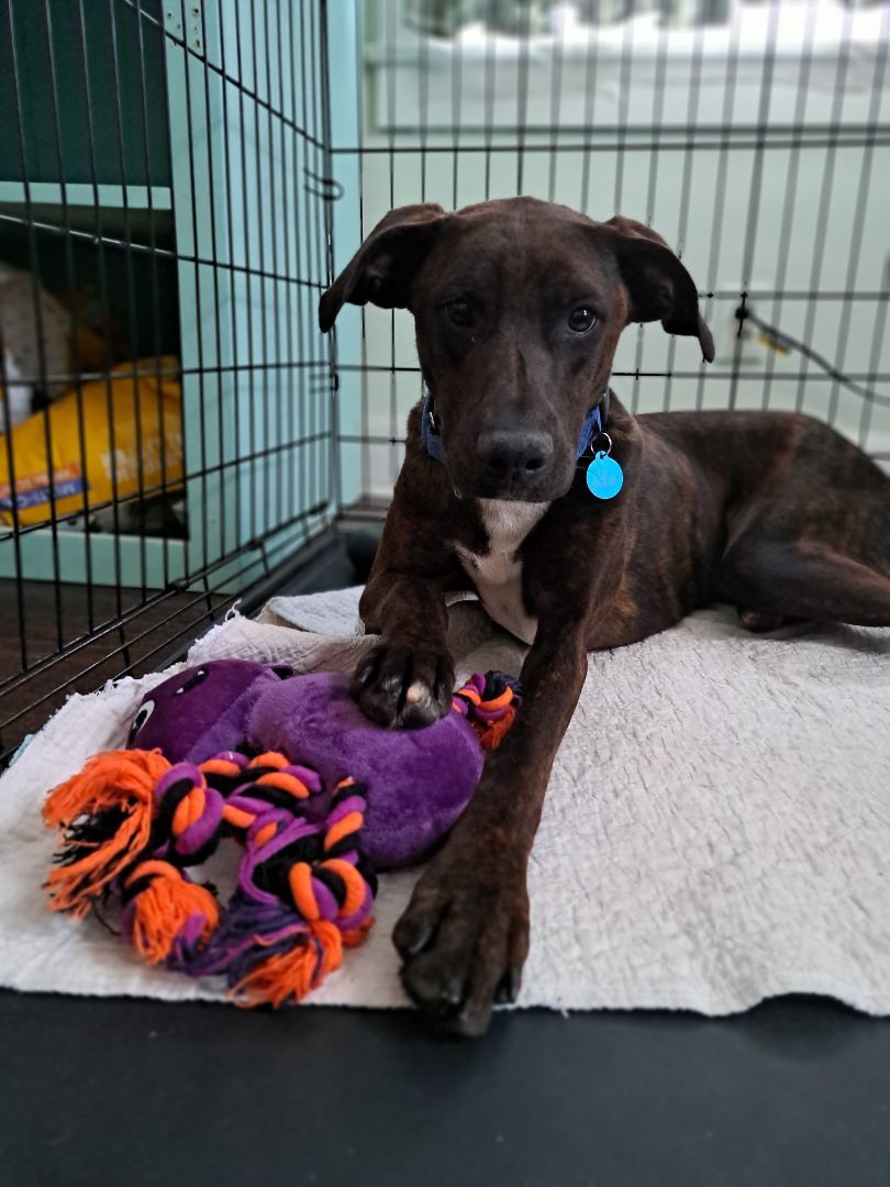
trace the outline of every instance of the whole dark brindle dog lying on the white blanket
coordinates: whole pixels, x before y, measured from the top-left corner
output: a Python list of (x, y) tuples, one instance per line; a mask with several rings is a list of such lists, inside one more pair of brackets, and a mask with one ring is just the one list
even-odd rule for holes
[[(443, 459), (408, 418), (405, 464), (361, 601), (382, 642), (354, 696), (368, 717), (445, 713), (444, 595), (479, 592), (532, 642), (526, 700), (395, 929), (412, 998), (481, 1034), (513, 1001), (528, 951), (526, 867), (587, 652), (621, 647), (714, 601), (749, 629), (788, 620), (890, 626), (890, 478), (831, 429), (769, 412), (632, 417), (611, 399), (624, 487), (589, 493), (577, 458), (618, 336), (660, 320), (713, 342), (692, 278), (647, 227), (532, 198), (456, 214), (394, 210), (322, 297), (408, 309)], [(605, 439), (593, 440), (596, 449)], [(603, 696), (609, 690), (603, 688)], [(596, 794), (596, 773), (591, 773)]]

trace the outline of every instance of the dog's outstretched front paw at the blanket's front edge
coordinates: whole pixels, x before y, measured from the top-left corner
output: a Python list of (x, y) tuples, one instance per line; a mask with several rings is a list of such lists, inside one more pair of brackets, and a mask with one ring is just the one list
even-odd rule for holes
[[(528, 954), (525, 872), (468, 851), (443, 852), (393, 933), (402, 984), (446, 1030), (476, 1037), (496, 1003), (515, 1002)], [(494, 855), (489, 855), (494, 857)]]

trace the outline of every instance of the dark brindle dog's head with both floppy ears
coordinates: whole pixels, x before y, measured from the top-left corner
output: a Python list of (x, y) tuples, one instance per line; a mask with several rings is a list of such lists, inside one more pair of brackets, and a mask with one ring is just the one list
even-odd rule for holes
[(322, 297), (323, 330), (345, 301), (414, 315), (449, 476), (476, 497), (568, 490), (629, 323), (659, 320), (714, 354), (692, 277), (661, 236), (534, 198), (390, 211)]

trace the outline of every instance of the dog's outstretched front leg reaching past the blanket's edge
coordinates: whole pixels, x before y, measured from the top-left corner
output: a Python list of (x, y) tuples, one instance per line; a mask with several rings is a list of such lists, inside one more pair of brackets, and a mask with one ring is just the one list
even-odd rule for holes
[(542, 622), (522, 667), (516, 721), (396, 925), (408, 994), (459, 1034), (482, 1034), (492, 1004), (519, 992), (528, 952), (528, 855), (586, 669), (583, 624)]

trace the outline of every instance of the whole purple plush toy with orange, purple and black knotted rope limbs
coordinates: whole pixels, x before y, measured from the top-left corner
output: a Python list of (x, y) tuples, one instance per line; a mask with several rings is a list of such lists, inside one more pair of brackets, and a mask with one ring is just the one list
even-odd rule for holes
[[(120, 906), (151, 964), (223, 977), (239, 1001), (300, 1001), (373, 925), (376, 869), (426, 857), (463, 812), (517, 704), (475, 675), (420, 730), (367, 721), (335, 673), (243, 660), (180, 672), (145, 697), (125, 750), (47, 796), (59, 829), (50, 906)], [(202, 880), (240, 852), (227, 902)]]

